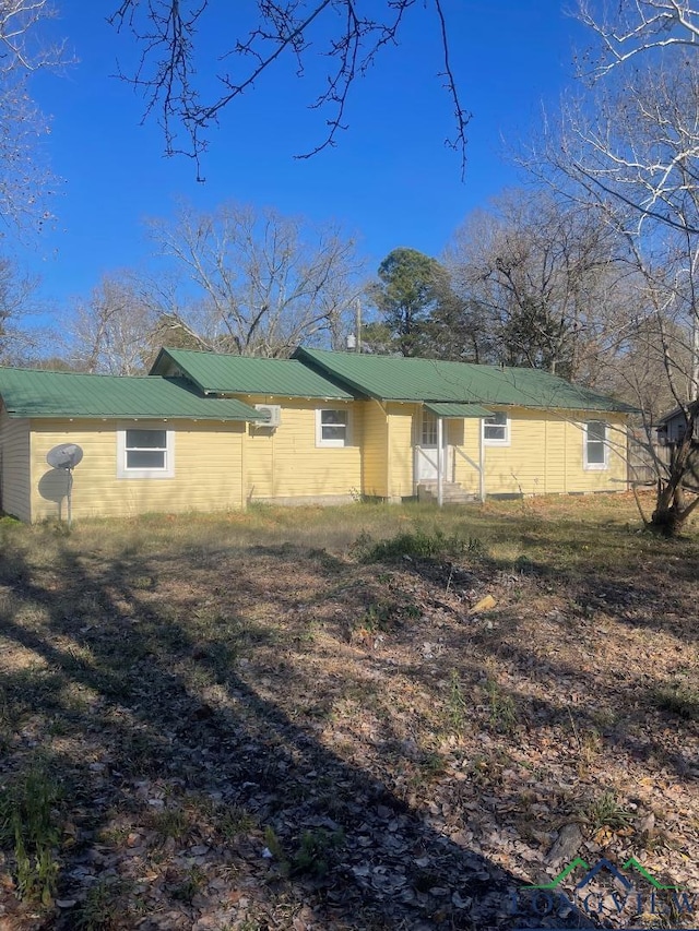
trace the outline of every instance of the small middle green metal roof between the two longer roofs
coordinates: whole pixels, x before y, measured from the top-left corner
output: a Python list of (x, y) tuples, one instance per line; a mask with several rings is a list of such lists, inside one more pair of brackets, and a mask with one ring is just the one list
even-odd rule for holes
[(192, 349), (161, 349), (151, 374), (182, 374), (206, 394), (264, 394), (332, 399), (353, 397), (308, 366), (292, 359), (258, 359)]

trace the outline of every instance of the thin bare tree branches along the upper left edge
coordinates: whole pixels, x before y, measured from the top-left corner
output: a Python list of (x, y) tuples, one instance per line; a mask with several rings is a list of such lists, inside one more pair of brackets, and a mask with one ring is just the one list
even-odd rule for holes
[(40, 227), (50, 217), (56, 179), (37, 145), (48, 122), (29, 79), (63, 59), (62, 47), (42, 39), (42, 23), (52, 15), (50, 0), (0, 0), (0, 216), (20, 226)]

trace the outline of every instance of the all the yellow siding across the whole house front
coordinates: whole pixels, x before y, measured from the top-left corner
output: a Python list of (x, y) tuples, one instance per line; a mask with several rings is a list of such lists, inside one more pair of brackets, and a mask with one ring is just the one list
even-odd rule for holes
[[(2, 505), (22, 520), (64, 516), (67, 477), (48, 467), (46, 453), (69, 441), (84, 451), (74, 473), (75, 517), (221, 511), (245, 506), (248, 500), (346, 497), (355, 490), (392, 500), (413, 496), (419, 406), (391, 403), (384, 414), (377, 402), (354, 402), (350, 405), (351, 444), (317, 446), (318, 408), (341, 406), (337, 402), (282, 402), (282, 422), (275, 430), (242, 423), (138, 421), (141, 427), (166, 426), (175, 431), (175, 476), (169, 479), (117, 478), (117, 428), (130, 426), (126, 421), (37, 420), (29, 425), (2, 413)], [(612, 452), (606, 469), (583, 468), (584, 414), (576, 416), (579, 419), (556, 411), (511, 411), (510, 445), (485, 446), (486, 493), (624, 490), (625, 455)], [(613, 438), (618, 453), (625, 454), (623, 418), (607, 420), (621, 428)], [(450, 444), (477, 464), (479, 421), (450, 421), (446, 429)], [(476, 469), (458, 454), (454, 473), (464, 489), (478, 492)]]

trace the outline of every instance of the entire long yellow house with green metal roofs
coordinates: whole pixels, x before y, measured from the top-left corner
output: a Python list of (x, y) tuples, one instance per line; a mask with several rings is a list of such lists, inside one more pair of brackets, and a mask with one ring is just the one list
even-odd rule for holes
[(0, 369), (0, 506), (74, 516), (251, 501), (617, 491), (627, 405), (532, 369), (299, 348), (162, 349), (140, 378)]

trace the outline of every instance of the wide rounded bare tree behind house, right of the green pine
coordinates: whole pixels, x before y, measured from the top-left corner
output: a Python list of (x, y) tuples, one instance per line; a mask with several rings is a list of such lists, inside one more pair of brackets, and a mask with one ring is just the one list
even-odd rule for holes
[(601, 342), (618, 322), (625, 274), (593, 207), (541, 189), (510, 191), (466, 220), (446, 264), (470, 320), (469, 341), (481, 334), (481, 361), (593, 383)]

